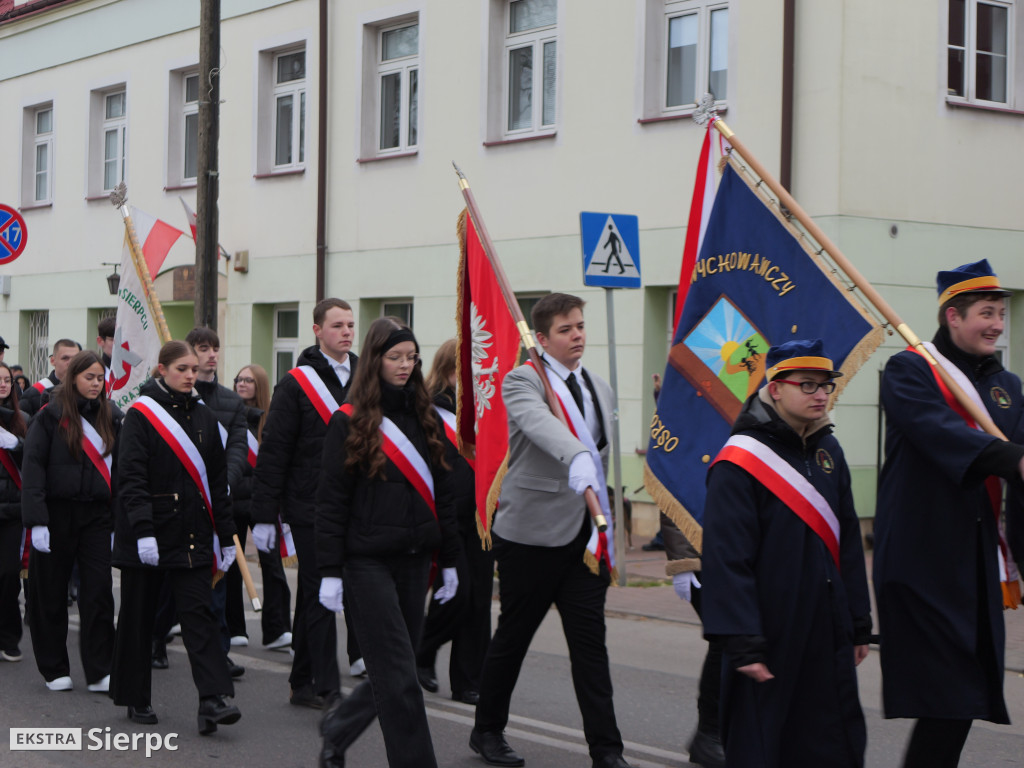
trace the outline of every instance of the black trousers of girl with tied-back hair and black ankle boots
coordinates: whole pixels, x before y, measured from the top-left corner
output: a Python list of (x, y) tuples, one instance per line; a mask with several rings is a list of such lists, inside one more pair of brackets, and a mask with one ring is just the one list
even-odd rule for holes
[(111, 696), (122, 707), (152, 703), (151, 641), (157, 602), (165, 579), (181, 622), (193, 681), (204, 696), (233, 696), (220, 627), (210, 608), (209, 567), (163, 570), (145, 565), (121, 568), (121, 611), (111, 673)]

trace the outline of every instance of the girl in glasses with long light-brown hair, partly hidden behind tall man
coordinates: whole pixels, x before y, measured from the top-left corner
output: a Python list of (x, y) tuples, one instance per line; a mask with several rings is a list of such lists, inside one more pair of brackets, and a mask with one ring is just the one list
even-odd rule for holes
[[(238, 486), (231, 489), (231, 509), (234, 512), (234, 526), (239, 529), (239, 541), (246, 547), (246, 534), (251, 524), (250, 508), (253, 494), (253, 468), (259, 456), (259, 443), (263, 436), (266, 412), (270, 408), (270, 378), (262, 366), (251, 362), (239, 371), (234, 377), (234, 391), (246, 406), (249, 441), (246, 471)], [(279, 544), (282, 534), (291, 528), (283, 528), (288, 523), (279, 523)], [(286, 539), (287, 541), (287, 539)], [(269, 552), (257, 550), (260, 574), (263, 579), (263, 609), (260, 626), (263, 632), (263, 647), (269, 650), (288, 650), (292, 644), (292, 591), (288, 587), (285, 568), (282, 564), (280, 547)], [(224, 578), (227, 582), (227, 628), (234, 637), (245, 631), (245, 603), (243, 602), (242, 573), (238, 563), (231, 565)]]

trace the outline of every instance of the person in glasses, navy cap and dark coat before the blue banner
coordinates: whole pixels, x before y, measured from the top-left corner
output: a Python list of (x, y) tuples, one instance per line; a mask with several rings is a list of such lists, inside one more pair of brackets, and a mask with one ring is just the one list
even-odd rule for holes
[(730, 767), (859, 768), (856, 666), (870, 601), (850, 470), (828, 395), (842, 373), (819, 339), (768, 350), (708, 474), (703, 627), (723, 644)]

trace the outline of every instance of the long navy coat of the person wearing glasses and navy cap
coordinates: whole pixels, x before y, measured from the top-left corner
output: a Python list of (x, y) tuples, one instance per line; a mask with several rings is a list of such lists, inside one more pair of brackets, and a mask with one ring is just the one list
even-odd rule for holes
[[(806, 442), (761, 400), (733, 434), (768, 445), (825, 498), (840, 522), (837, 569), (825, 544), (752, 474), (709, 471), (702, 573), (705, 634), (724, 643), (722, 738), (727, 765), (863, 765), (866, 730), (854, 645), (870, 634), (870, 602), (850, 471), (826, 420)], [(763, 663), (774, 680), (736, 672)]]

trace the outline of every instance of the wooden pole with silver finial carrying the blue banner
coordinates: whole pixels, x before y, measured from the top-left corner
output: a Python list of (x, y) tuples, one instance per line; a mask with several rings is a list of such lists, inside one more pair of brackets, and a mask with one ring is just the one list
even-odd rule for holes
[[(772, 176), (768, 170), (758, 162), (758, 159), (754, 157), (750, 150), (743, 144), (743, 142), (736, 136), (729, 126), (725, 124), (715, 111), (715, 99), (711, 94), (705, 94), (700, 99), (700, 103), (696, 111), (693, 113), (693, 121), (698, 125), (705, 125), (708, 121), (712, 121), (712, 127), (719, 132), (719, 134), (732, 146), (732, 151), (735, 152), (743, 161), (751, 167), (751, 169), (761, 178), (764, 184), (775, 194), (778, 198), (779, 205), (794, 218), (797, 219), (804, 227), (804, 229), (810, 234), (821, 247), (821, 250), (828, 254), (831, 261), (839, 267), (840, 270), (846, 275), (846, 278), (856, 287), (865, 299), (874, 307), (874, 309), (885, 317), (886, 322), (899, 333), (900, 336), (913, 347), (921, 355), (928, 360), (929, 365), (935, 370), (936, 373), (942, 378), (942, 381), (952, 392), (956, 401), (970, 414), (971, 418), (988, 434), (998, 437), (1000, 440), (1006, 440), (1007, 436), (1002, 434), (1002, 431), (995, 426), (995, 422), (992, 418), (985, 412), (984, 409), (977, 406), (974, 400), (972, 400), (967, 393), (961, 388), (961, 386), (953, 381), (952, 377), (945, 371), (945, 369), (938, 365), (935, 357), (932, 356), (931, 352), (924, 345), (924, 342), (918, 337), (918, 335), (910, 330), (909, 326), (904, 323), (896, 310), (889, 305), (889, 303), (882, 298), (874, 287), (867, 282), (867, 280), (858, 271), (858, 269), (850, 262), (843, 252), (839, 250), (839, 247), (825, 234), (821, 227), (819, 227), (814, 220), (807, 214), (807, 212), (800, 207), (800, 204), (794, 200), (793, 196), (783, 187), (774, 176)], [(890, 334), (892, 331), (890, 331)]]

